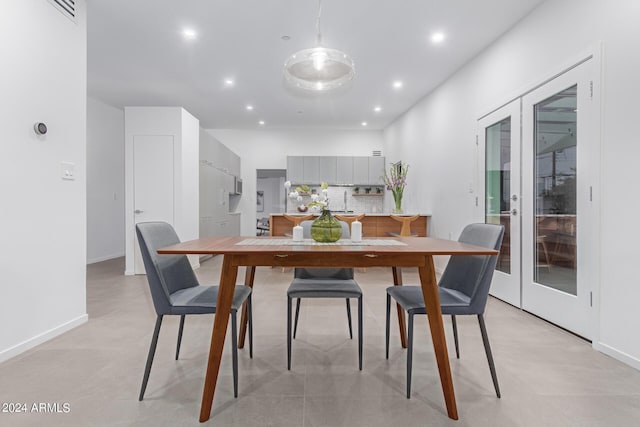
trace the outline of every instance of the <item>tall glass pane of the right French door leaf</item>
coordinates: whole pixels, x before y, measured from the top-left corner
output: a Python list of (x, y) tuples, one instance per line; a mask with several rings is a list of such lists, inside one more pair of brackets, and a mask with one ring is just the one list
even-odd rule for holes
[(577, 86), (535, 106), (535, 282), (576, 295)]

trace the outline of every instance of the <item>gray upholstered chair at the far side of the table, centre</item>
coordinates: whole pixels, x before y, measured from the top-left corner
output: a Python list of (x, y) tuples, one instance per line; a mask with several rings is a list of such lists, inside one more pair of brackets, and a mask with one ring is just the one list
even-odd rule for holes
[[(303, 237), (311, 237), (313, 221), (303, 221)], [(342, 238), (349, 238), (349, 224), (340, 221)], [(293, 281), (287, 289), (287, 369), (291, 369), (291, 312), (293, 298), (297, 298), (295, 326), (293, 338), (298, 329), (301, 298), (345, 298), (347, 301), (347, 319), (349, 321), (349, 337), (353, 339), (351, 327), (350, 298), (358, 299), (358, 360), (362, 370), (362, 289), (353, 277), (353, 268), (300, 268), (296, 267)]]

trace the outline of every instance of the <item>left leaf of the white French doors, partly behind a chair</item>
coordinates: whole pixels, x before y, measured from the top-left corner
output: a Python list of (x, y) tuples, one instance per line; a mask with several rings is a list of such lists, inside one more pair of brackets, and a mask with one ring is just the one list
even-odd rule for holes
[(478, 121), (480, 194), (485, 222), (502, 224), (504, 239), (491, 295), (520, 307), (520, 100)]

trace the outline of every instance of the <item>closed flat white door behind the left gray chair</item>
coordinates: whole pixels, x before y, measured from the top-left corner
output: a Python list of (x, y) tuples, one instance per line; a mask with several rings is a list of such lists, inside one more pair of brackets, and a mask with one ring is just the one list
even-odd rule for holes
[[(134, 224), (174, 221), (173, 136), (133, 137)], [(138, 237), (135, 238), (135, 274), (144, 274)]]

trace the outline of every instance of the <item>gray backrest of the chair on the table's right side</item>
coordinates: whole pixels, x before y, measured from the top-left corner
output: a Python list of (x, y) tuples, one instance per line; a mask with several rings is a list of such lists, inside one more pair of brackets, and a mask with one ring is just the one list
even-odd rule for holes
[[(497, 224), (469, 224), (458, 239), (461, 243), (500, 250), (504, 227)], [(497, 255), (452, 256), (439, 286), (456, 290), (470, 299), (468, 314), (484, 313)]]

